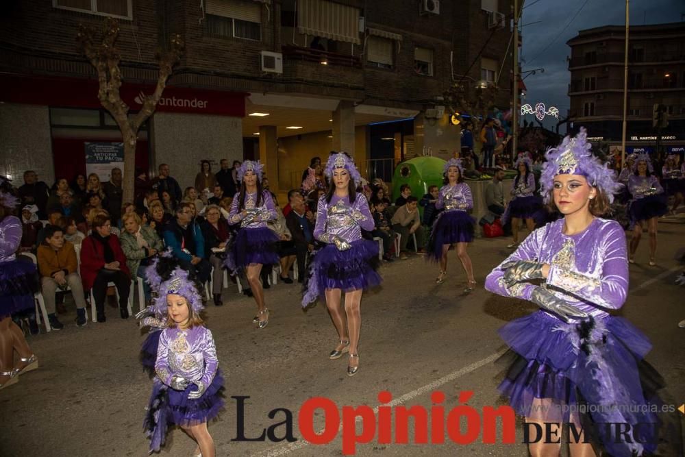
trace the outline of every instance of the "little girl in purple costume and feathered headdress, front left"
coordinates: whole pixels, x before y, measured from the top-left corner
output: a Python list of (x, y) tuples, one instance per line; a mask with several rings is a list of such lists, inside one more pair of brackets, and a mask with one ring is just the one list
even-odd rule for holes
[(212, 332), (200, 318), (199, 284), (189, 274), (175, 270), (155, 298), (157, 314), (166, 313), (166, 328), (160, 334), (145, 432), (150, 452), (158, 452), (169, 425), (178, 425), (197, 442), (193, 455), (214, 457), (207, 422), (223, 407), (223, 378)]

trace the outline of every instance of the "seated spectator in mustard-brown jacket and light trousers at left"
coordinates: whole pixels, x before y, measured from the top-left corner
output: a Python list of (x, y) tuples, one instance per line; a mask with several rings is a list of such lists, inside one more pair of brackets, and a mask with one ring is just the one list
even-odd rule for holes
[(64, 325), (55, 314), (55, 294), (71, 288), (76, 303), (76, 325), (86, 325), (86, 300), (74, 245), (64, 239), (62, 227), (45, 227), (45, 241), (38, 247), (38, 271), (45, 309), (53, 330), (62, 330)]

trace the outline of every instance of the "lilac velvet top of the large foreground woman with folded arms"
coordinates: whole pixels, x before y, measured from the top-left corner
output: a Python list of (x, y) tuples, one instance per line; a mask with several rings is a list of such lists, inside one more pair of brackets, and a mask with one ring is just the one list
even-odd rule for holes
[(550, 265), (545, 286), (554, 295), (595, 318), (606, 317), (606, 309), (623, 306), (628, 291), (625, 233), (616, 221), (599, 218), (580, 234), (564, 235), (563, 227), (564, 219), (559, 219), (535, 230), (490, 272), (485, 288), (505, 297), (530, 300), (536, 286), (519, 282), (507, 288), (501, 265), (534, 260)]

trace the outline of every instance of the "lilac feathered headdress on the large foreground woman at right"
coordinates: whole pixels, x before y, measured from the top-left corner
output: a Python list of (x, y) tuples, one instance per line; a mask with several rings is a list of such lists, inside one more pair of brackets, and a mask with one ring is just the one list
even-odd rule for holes
[(545, 153), (547, 162), (543, 164), (543, 173), (540, 175), (540, 188), (545, 203), (549, 203), (551, 199), (556, 175), (583, 175), (591, 186), (606, 194), (610, 203), (614, 201), (614, 193), (619, 187), (616, 184), (616, 175), (607, 164), (602, 164), (593, 156), (587, 136), (586, 129), (581, 127), (575, 138), (566, 136), (558, 147), (548, 149)]

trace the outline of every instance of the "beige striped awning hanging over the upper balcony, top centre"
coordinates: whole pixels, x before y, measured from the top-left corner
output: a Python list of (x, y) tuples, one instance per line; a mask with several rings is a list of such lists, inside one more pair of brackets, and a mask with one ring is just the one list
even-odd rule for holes
[(356, 45), (361, 43), (358, 8), (326, 0), (298, 0), (296, 8), (297, 32)]

